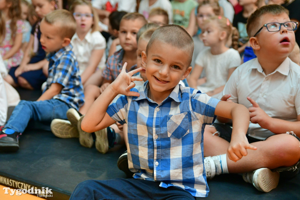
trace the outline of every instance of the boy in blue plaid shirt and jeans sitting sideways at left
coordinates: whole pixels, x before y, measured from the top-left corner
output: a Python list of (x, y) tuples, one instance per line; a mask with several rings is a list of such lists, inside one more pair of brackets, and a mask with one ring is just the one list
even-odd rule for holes
[(49, 75), (43, 94), (37, 101), (20, 101), (7, 124), (0, 132), (0, 150), (15, 152), (19, 149), (18, 136), (29, 120), (51, 122), (55, 118), (67, 119), (69, 108), (76, 110), (84, 102), (83, 87), (78, 64), (71, 51), (71, 38), (76, 31), (73, 15), (56, 10), (41, 21), (41, 44), (49, 53)]

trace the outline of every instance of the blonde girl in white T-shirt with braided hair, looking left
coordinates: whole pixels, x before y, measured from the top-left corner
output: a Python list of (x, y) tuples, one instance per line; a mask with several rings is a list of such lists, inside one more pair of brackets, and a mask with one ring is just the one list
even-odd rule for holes
[[(204, 45), (210, 48), (203, 50), (197, 56), (193, 72), (188, 78), (190, 87), (215, 98), (219, 96), (232, 72), (241, 64), (238, 51), (226, 46), (229, 36), (233, 34), (228, 18), (219, 15), (205, 20), (201, 38)], [(206, 82), (197, 85), (203, 69), (205, 69)]]

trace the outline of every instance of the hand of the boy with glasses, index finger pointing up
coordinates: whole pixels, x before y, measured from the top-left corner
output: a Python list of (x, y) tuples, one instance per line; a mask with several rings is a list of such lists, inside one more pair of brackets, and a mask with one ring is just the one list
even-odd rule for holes
[(247, 97), (247, 99), (253, 105), (253, 107), (248, 108), (250, 121), (253, 124), (259, 124), (263, 129), (268, 129), (271, 117), (266, 114), (252, 98)]

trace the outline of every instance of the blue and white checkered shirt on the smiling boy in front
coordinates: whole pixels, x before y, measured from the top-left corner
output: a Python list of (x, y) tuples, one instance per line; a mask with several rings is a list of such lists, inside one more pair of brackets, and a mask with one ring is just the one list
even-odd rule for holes
[(134, 178), (179, 186), (193, 196), (208, 196), (203, 166), (205, 124), (214, 122), (218, 99), (177, 85), (159, 105), (148, 98), (149, 82), (122, 95), (108, 108), (115, 121), (128, 126), (128, 165)]

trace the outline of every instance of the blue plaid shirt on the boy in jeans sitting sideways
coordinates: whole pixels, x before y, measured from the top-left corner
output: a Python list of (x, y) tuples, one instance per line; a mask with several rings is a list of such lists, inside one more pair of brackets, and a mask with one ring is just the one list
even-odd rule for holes
[(43, 93), (52, 83), (61, 84), (63, 86), (61, 92), (53, 98), (66, 102), (78, 111), (84, 103), (84, 95), (72, 45), (69, 44), (56, 53), (49, 53), (46, 59), (49, 60), (49, 73)]

